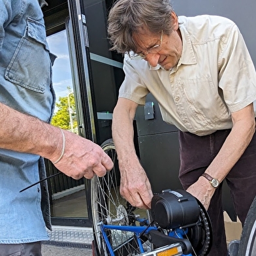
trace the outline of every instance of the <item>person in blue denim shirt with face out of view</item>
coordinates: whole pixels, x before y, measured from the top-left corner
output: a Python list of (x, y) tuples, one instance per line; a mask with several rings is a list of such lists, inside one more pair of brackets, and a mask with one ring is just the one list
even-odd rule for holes
[(51, 229), (43, 157), (74, 179), (104, 176), (100, 146), (50, 125), (56, 56), (46, 42), (44, 0), (0, 0), (0, 255), (41, 255)]

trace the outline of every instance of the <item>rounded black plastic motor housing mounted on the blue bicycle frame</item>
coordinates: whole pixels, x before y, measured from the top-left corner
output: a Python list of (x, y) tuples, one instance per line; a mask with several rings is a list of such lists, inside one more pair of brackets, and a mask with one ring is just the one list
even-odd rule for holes
[(153, 195), (153, 219), (162, 229), (176, 229), (195, 225), (199, 219), (197, 199), (182, 190), (164, 190)]

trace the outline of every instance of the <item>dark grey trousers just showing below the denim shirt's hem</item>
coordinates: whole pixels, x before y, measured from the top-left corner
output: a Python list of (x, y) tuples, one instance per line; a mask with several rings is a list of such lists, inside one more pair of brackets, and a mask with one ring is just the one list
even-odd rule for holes
[(42, 256), (41, 242), (0, 244), (0, 256)]

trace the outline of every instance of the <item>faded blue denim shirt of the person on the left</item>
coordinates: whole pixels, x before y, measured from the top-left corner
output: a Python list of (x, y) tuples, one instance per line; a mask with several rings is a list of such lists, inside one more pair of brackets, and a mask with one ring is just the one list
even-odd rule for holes
[[(50, 122), (55, 103), (51, 77), (56, 56), (50, 54), (46, 42), (42, 3), (0, 0), (0, 102)], [(0, 150), (1, 244), (48, 240), (47, 184), (19, 192), (45, 176), (39, 155)]]

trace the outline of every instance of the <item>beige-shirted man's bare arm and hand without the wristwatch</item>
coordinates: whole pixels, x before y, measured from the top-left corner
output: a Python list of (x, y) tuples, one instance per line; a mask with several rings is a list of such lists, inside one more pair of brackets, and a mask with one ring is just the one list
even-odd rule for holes
[(113, 113), (112, 136), (121, 172), (121, 195), (133, 206), (146, 209), (151, 206), (153, 194), (133, 143), (133, 119), (137, 106), (128, 99), (118, 99)]

